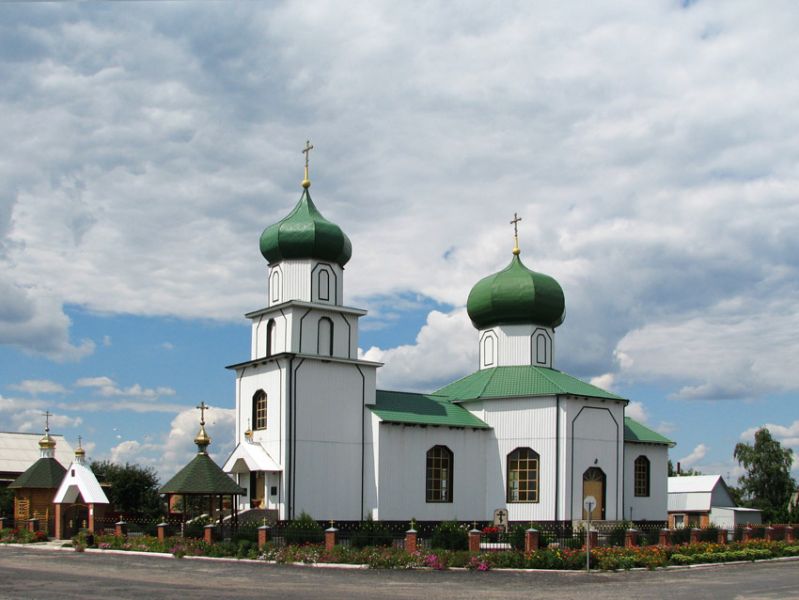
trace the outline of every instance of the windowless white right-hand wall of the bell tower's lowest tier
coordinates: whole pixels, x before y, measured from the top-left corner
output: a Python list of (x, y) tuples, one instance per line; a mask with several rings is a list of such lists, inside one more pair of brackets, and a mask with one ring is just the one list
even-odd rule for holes
[(286, 415), (292, 423), (288, 479), (294, 516), (306, 511), (315, 519), (358, 520), (362, 503), (366, 511), (361, 489), (364, 393), (371, 387), (367, 402), (374, 402), (374, 367), (359, 371), (355, 365), (307, 358), (295, 366), (296, 401)]

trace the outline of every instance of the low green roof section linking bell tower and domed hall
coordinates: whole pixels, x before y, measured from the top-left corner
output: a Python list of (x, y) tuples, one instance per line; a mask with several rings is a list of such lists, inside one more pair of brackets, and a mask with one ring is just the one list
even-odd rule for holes
[(442, 425), (488, 429), (488, 425), (446, 397), (377, 390), (376, 403), (368, 408), (388, 423)]

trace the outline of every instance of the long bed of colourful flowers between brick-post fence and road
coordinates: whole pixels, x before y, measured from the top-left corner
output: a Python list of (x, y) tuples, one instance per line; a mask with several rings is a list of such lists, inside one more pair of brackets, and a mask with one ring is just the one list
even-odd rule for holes
[[(208, 544), (203, 540), (142, 536), (125, 540), (111, 535), (97, 536), (101, 549), (163, 552), (177, 558), (184, 556), (214, 556), (251, 558), (277, 563), (339, 563), (368, 565), (373, 569), (410, 569), (426, 567), (443, 570), (453, 567), (487, 571), (497, 568), (560, 569), (585, 568), (585, 551), (570, 548), (542, 548), (534, 552), (500, 551), (472, 553), (466, 550), (419, 550), (414, 553), (401, 548), (335, 546), (326, 550), (322, 544), (267, 544), (259, 550), (249, 540)], [(633, 548), (600, 547), (591, 550), (591, 568), (623, 570), (656, 569), (670, 565), (691, 565), (740, 560), (760, 560), (783, 556), (799, 556), (799, 545), (781, 541), (751, 540), (717, 544), (698, 542), (680, 546), (641, 546)]]

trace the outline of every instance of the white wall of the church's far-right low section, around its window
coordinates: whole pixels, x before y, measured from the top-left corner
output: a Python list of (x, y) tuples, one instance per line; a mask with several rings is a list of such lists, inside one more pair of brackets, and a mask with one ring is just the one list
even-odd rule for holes
[[(649, 459), (649, 496), (635, 495), (635, 459)], [(665, 521), (668, 503), (668, 446), (624, 444), (624, 518)], [(631, 511), (632, 509), (632, 511)], [(632, 513), (632, 516), (630, 516)]]

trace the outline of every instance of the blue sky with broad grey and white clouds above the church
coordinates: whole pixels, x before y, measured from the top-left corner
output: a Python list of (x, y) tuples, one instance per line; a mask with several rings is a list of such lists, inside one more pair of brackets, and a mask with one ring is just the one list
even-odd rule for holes
[[(603, 7), (597, 6), (603, 4)], [(232, 447), (264, 227), (348, 233), (380, 385), (476, 366), (471, 286), (563, 286), (556, 366), (706, 473), (799, 451), (799, 5), (0, 4), (0, 430), (187, 461)]]

